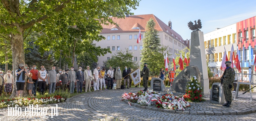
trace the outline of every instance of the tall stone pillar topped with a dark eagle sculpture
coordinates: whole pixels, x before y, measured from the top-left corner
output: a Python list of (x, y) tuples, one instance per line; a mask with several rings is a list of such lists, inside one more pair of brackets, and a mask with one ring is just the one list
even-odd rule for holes
[(195, 25), (193, 25), (193, 23), (190, 21), (188, 25), (189, 28), (193, 30), (193, 32), (191, 32), (190, 42), (190, 65), (195, 65), (199, 68), (201, 74), (200, 83), (203, 90), (202, 94), (209, 94), (209, 79), (204, 48), (204, 38), (203, 32), (199, 30), (202, 28), (201, 20), (199, 19), (197, 24), (195, 21)]

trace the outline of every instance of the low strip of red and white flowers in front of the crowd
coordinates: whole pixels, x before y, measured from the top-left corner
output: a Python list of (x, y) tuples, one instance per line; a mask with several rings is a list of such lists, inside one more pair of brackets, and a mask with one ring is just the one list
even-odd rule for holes
[(12, 100), (7, 100), (4, 101), (2, 100), (0, 102), (0, 107), (5, 108), (5, 107), (15, 107), (16, 104), (19, 106), (27, 106), (29, 104), (51, 104), (51, 103), (58, 103), (58, 102), (64, 102), (66, 98), (61, 97), (60, 95), (52, 96), (52, 97), (41, 97), (40, 99), (38, 98), (22, 98), (22, 99), (12, 99)]

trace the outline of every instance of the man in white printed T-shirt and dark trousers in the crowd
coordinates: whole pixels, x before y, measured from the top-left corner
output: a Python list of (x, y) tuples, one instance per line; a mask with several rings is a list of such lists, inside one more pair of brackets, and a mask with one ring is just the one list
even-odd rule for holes
[(45, 71), (44, 66), (41, 66), (41, 70), (38, 71), (38, 92), (39, 94), (45, 94), (46, 90), (46, 79), (47, 79), (47, 73)]

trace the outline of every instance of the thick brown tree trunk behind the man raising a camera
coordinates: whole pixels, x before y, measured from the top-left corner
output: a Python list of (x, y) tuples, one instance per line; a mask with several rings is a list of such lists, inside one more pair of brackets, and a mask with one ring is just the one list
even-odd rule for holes
[[(19, 64), (25, 65), (25, 54), (24, 54), (24, 43), (23, 43), (24, 30), (19, 27), (17, 29), (19, 30), (19, 33), (11, 34), (12, 69), (13, 69), (14, 80), (16, 78), (15, 71), (19, 68)], [(24, 85), (24, 90), (22, 94), (23, 96), (28, 95), (28, 91), (25, 88), (27, 85), (26, 78), (25, 78), (25, 85)], [(12, 94), (9, 98), (12, 98), (15, 96), (16, 96), (16, 83), (13, 86)]]

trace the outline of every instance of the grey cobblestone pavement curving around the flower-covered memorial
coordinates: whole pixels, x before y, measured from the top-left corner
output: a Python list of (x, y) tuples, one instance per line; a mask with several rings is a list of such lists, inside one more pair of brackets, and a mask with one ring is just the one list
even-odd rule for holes
[[(101, 121), (216, 121), (216, 120), (232, 120), (232, 121), (253, 121), (256, 119), (256, 113), (249, 114), (225, 114), (225, 112), (234, 110), (255, 110), (255, 102), (234, 101), (231, 108), (226, 108), (219, 104), (211, 103), (209, 100), (203, 103), (191, 103), (190, 111), (219, 111), (222, 115), (200, 115), (200, 114), (180, 114), (180, 112), (163, 112), (157, 108), (148, 109), (146, 106), (129, 106), (125, 101), (121, 101), (121, 95), (124, 92), (136, 92), (143, 88), (130, 88), (124, 90), (106, 90), (84, 93), (67, 99), (64, 103), (58, 103), (58, 115), (44, 119), (43, 116), (8, 116), (8, 109), (0, 109), (0, 120), (30, 120), (28, 118), (39, 118), (35, 120), (101, 120)], [(240, 94), (240, 93), (239, 93)], [(249, 93), (248, 93), (249, 94)], [(248, 96), (248, 94), (243, 96)], [(234, 95), (234, 94), (233, 94)], [(209, 95), (205, 95), (209, 98)], [(255, 93), (254, 93), (255, 98)], [(42, 105), (42, 108), (56, 108), (55, 104)], [(25, 109), (25, 107), (22, 107)], [(224, 113), (223, 113), (224, 112)], [(50, 113), (50, 112), (48, 112)], [(22, 119), (23, 118), (23, 119)], [(34, 120), (34, 119), (33, 119)]]

